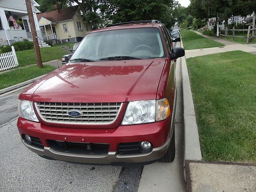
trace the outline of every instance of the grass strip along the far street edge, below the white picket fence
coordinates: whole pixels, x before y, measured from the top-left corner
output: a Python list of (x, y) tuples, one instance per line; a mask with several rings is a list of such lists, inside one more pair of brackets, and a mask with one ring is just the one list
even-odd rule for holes
[(37, 66), (29, 66), (26, 68), (17, 68), (15, 70), (2, 73), (0, 74), (0, 90), (14, 86), (14, 84), (47, 74), (54, 69), (56, 68), (46, 65), (42, 69), (38, 68)]

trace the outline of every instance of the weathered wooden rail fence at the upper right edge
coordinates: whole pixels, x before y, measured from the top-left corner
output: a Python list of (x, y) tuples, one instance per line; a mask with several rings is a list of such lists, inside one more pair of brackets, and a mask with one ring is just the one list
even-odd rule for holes
[[(222, 31), (224, 31), (225, 33), (222, 34)], [(228, 31), (232, 31), (232, 35), (228, 35)], [(247, 36), (235, 35), (235, 31), (246, 31), (247, 32)], [(252, 31), (252, 36), (250, 36), (251, 31)], [(220, 37), (221, 36), (225, 36), (226, 38), (227, 37), (232, 37), (233, 40), (234, 40), (235, 37), (237, 37), (237, 38), (246, 38), (246, 43), (247, 44), (248, 44), (250, 38), (256, 37), (255, 34), (256, 34), (256, 28), (251, 28), (251, 26), (249, 26), (248, 29), (234, 29), (234, 27), (233, 27), (233, 29), (227, 29), (226, 28), (224, 30), (220, 30)]]

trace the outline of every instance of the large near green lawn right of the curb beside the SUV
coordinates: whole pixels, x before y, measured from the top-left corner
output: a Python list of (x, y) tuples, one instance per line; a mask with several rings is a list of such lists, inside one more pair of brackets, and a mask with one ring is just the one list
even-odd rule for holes
[(204, 160), (256, 162), (256, 56), (187, 59)]

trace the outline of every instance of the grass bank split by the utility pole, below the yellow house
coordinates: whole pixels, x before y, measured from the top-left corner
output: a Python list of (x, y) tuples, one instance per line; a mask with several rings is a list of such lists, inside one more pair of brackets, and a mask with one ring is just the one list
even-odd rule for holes
[[(60, 59), (67, 52), (59, 47), (40, 48), (42, 62), (47, 62), (54, 59)], [(35, 50), (17, 51), (19, 67), (28, 66), (36, 63)]]

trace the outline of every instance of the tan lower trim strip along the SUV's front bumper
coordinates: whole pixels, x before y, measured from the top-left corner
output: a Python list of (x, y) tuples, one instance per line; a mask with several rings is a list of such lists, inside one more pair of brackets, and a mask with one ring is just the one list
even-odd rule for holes
[(22, 139), (30, 151), (39, 156), (50, 157), (55, 160), (69, 161), (76, 163), (92, 163), (92, 164), (111, 164), (111, 163), (143, 163), (148, 161), (155, 161), (161, 158), (168, 150), (170, 139), (157, 148), (153, 148), (152, 152), (136, 155), (118, 155), (117, 152), (109, 152), (107, 155), (78, 155), (70, 153), (56, 152), (50, 147), (37, 148), (31, 146)]

